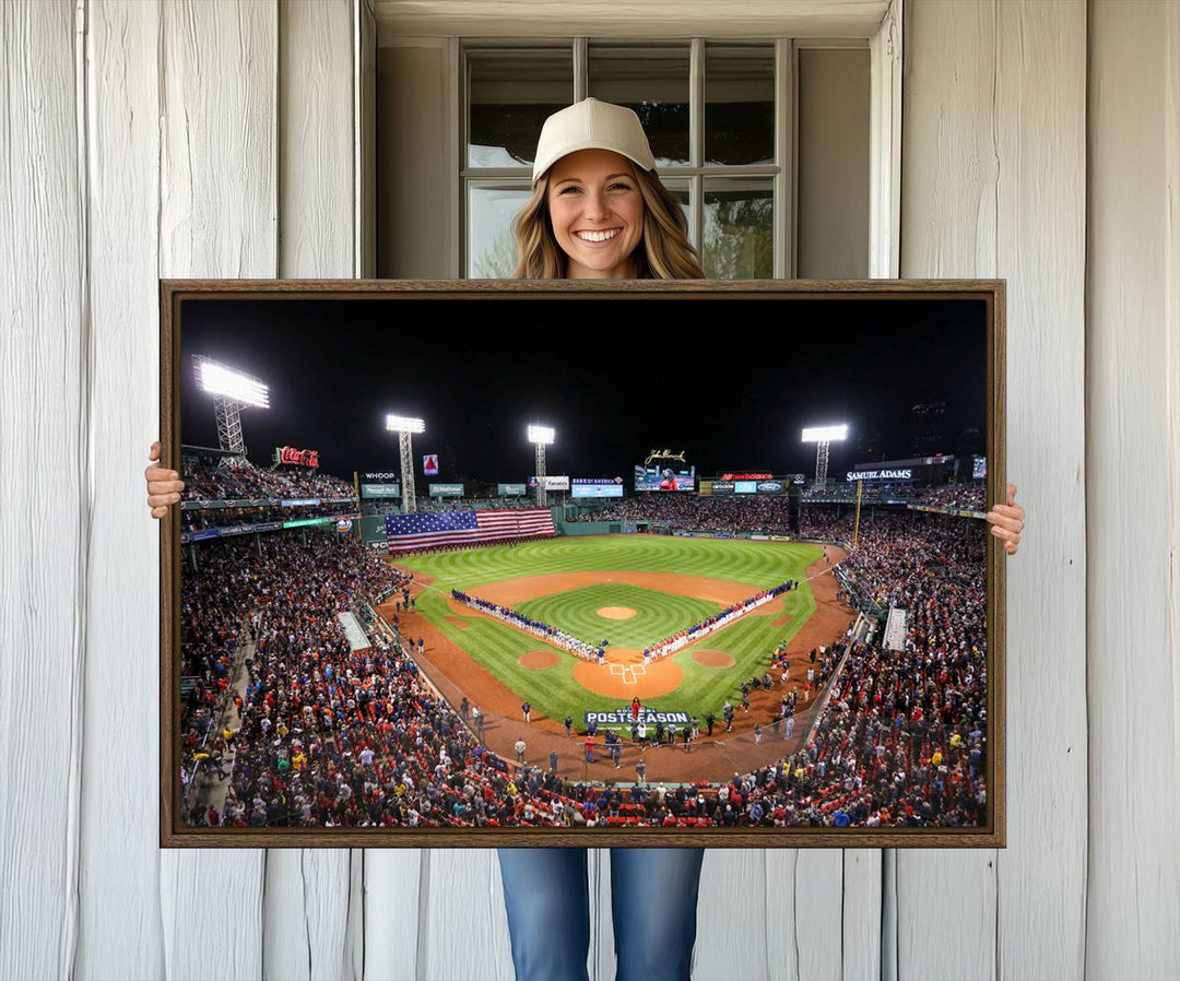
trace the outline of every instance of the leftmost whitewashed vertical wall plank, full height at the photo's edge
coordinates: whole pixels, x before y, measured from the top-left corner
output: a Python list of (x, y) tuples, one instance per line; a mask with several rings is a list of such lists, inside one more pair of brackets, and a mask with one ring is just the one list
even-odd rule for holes
[(91, 516), (74, 6), (0, 14), (0, 975), (70, 970)]

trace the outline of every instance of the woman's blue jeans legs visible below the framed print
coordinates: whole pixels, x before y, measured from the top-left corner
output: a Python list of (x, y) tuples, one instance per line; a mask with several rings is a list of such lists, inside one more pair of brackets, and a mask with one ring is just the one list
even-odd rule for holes
[[(502, 848), (517, 981), (588, 981), (590, 884), (582, 848)], [(704, 849), (612, 848), (616, 981), (688, 981)]]

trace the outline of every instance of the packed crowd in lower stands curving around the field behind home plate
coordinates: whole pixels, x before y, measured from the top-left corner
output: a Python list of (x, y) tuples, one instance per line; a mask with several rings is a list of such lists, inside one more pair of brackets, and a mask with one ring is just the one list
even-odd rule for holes
[[(833, 511), (817, 508), (814, 511)], [(833, 519), (851, 537), (851, 516)], [(914, 512), (861, 522), (846, 567), (883, 606), (909, 610), (905, 652), (851, 643), (822, 652), (814, 692), (832, 681), (812, 739), (727, 784), (631, 787), (512, 770), (421, 678), (396, 637), (353, 652), (335, 613), (405, 588), (354, 539), (261, 536), (199, 547), (183, 578), (186, 761), (234, 752), (224, 813), (237, 826), (559, 825), (952, 826), (986, 806), (985, 527)], [(243, 624), (253, 656), (240, 732), (212, 732)], [(768, 653), (767, 673), (784, 649)], [(813, 662), (814, 663), (814, 662)], [(743, 682), (743, 695), (759, 684)], [(811, 688), (811, 679), (808, 679)], [(795, 693), (767, 719), (791, 732)], [(732, 712), (732, 706), (730, 709)], [(466, 714), (466, 713), (465, 713)]]

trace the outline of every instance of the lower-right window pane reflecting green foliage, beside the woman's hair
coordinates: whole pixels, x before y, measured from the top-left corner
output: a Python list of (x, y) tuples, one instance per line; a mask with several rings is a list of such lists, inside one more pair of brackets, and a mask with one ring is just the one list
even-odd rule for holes
[(704, 275), (768, 280), (774, 275), (774, 191), (767, 178), (704, 182)]

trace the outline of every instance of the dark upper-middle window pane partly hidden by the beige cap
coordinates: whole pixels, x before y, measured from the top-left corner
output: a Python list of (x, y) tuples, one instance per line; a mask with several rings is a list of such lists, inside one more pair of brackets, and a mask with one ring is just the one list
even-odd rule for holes
[(635, 110), (656, 166), (687, 165), (689, 46), (591, 45), (589, 94)]

